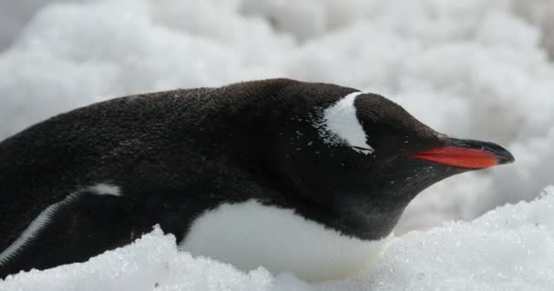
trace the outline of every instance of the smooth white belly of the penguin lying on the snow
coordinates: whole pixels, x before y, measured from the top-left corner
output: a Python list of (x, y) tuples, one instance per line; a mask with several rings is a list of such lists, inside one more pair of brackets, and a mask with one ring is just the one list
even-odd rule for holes
[(249, 200), (202, 214), (180, 244), (195, 256), (210, 256), (242, 270), (264, 266), (308, 281), (353, 275), (380, 256), (388, 239), (342, 236), (313, 221)]

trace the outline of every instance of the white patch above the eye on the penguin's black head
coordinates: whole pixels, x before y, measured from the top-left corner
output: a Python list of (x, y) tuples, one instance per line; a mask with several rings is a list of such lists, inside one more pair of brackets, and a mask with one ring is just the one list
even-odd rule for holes
[(356, 116), (354, 100), (363, 92), (345, 95), (323, 111), (323, 141), (327, 144), (347, 144), (354, 151), (369, 155), (374, 148), (367, 145), (364, 128)]

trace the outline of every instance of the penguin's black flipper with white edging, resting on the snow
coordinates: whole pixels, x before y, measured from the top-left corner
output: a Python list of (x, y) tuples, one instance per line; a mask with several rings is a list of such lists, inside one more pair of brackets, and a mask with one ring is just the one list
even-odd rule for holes
[(133, 204), (126, 197), (81, 190), (47, 206), (0, 253), (0, 279), (32, 268), (84, 262), (139, 237)]

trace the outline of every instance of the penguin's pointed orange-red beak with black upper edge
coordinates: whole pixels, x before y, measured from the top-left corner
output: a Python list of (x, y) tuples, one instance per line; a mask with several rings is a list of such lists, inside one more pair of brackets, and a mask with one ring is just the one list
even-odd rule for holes
[(483, 169), (513, 163), (514, 156), (497, 144), (471, 139), (450, 139), (449, 146), (436, 147), (410, 157), (446, 166)]

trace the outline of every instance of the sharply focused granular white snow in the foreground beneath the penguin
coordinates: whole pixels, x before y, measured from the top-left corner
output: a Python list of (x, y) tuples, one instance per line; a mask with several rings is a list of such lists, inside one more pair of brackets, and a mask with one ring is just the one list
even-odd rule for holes
[(471, 222), (395, 237), (358, 275), (320, 284), (179, 252), (159, 229), (87, 263), (9, 276), (0, 290), (551, 290), (554, 186)]

